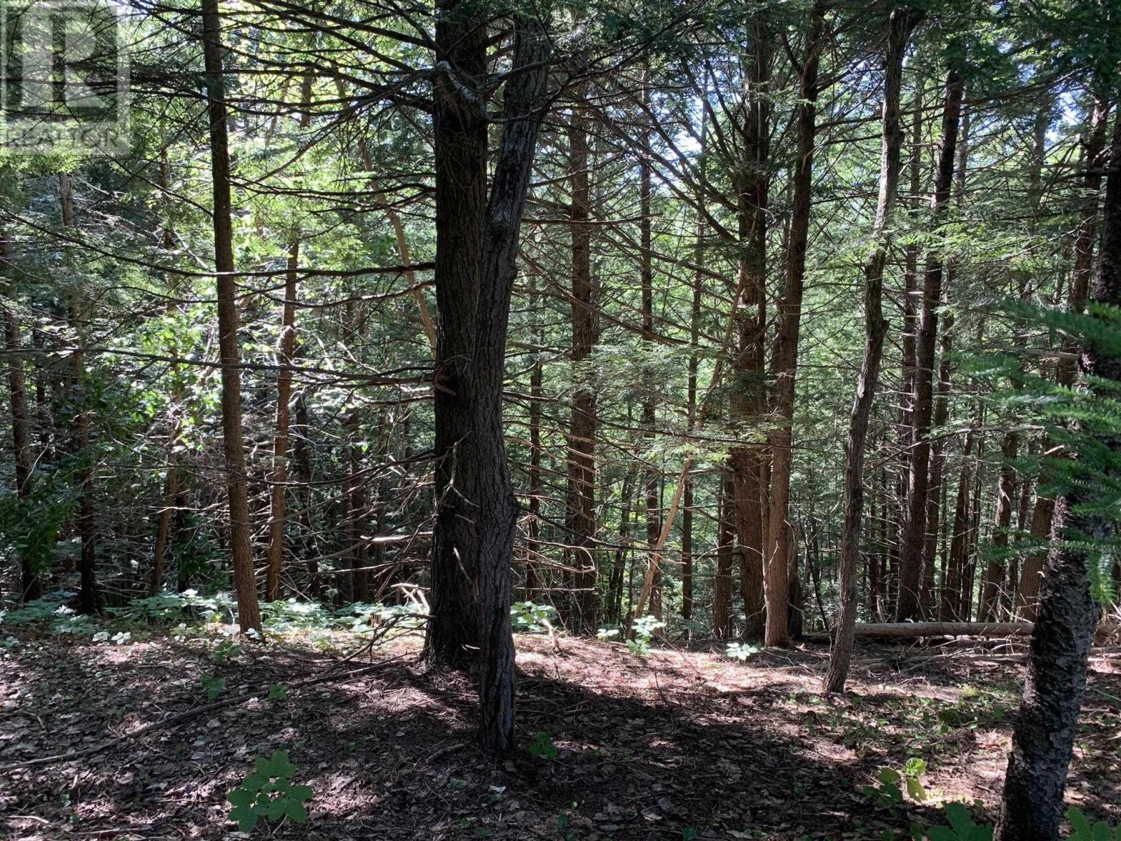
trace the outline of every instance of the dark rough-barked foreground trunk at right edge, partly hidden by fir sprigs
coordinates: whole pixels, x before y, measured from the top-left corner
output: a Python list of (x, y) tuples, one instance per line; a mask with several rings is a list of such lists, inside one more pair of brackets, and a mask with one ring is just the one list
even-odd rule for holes
[[(1121, 121), (1117, 122), (1112, 146), (1102, 252), (1091, 297), (1094, 303), (1117, 307), (1121, 305)], [(1100, 330), (1109, 330), (1108, 322), (1102, 321)], [(1121, 383), (1121, 355), (1094, 346), (1092, 340), (1083, 349), (1078, 367), (1083, 376), (1112, 380), (1114, 388)], [(1121, 452), (1121, 440), (1117, 436), (1099, 433), (1095, 440), (1114, 454)], [(1081, 498), (1085, 488), (1081, 484), (1076, 488), (1077, 495), (1055, 502), (1053, 539), (1076, 537), (1081, 545), (1055, 546), (1044, 566), (995, 841), (1058, 838), (1067, 769), (1086, 685), (1086, 657), (1097, 618), (1088, 575), (1088, 565), (1097, 563), (1097, 555), (1084, 547), (1087, 539), (1102, 544), (1114, 539), (1112, 521), (1078, 509), (1080, 503), (1101, 500)]]

